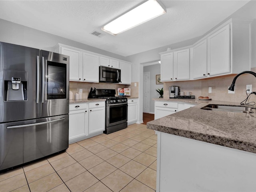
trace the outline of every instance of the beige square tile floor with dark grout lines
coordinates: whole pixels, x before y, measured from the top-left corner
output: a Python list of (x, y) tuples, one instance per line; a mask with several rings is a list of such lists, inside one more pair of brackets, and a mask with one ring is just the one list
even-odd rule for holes
[(143, 124), (0, 174), (0, 192), (155, 192), (157, 136)]

